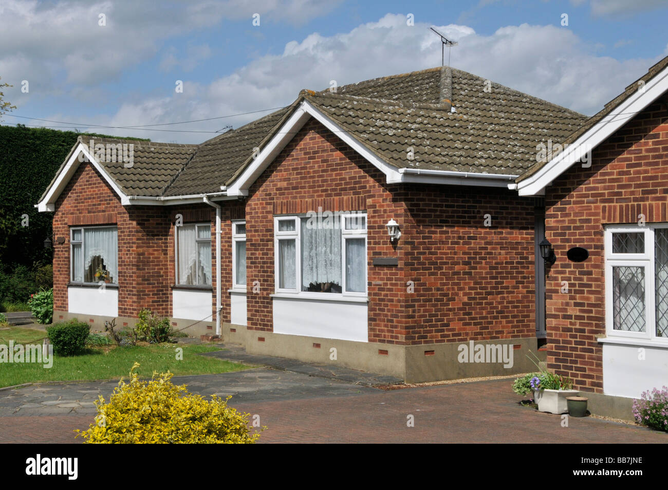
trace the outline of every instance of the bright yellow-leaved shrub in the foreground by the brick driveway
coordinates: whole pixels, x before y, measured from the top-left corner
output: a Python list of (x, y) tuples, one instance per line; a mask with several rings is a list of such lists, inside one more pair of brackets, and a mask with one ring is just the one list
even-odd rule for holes
[(251, 434), (248, 414), (227, 406), (216, 395), (207, 401), (188, 393), (186, 386), (172, 384), (173, 374), (153, 373), (150, 382), (138, 380), (130, 370), (130, 383), (118, 383), (108, 403), (100, 396), (98, 415), (87, 431), (77, 437), (86, 443), (255, 443), (259, 433)]

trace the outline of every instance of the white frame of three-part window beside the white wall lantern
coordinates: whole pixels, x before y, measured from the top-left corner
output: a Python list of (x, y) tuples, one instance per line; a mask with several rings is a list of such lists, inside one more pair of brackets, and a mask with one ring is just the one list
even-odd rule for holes
[[(345, 212), (337, 213), (339, 219), (339, 229), (341, 230), (341, 293), (317, 293), (313, 291), (302, 291), (302, 277), (301, 277), (301, 221), (302, 218), (308, 218), (309, 215), (276, 215), (274, 217), (274, 279), (275, 279), (275, 293), (295, 295), (296, 297), (304, 297), (309, 299), (345, 299), (345, 298), (367, 298), (368, 297), (368, 269), (369, 269), (369, 241), (368, 237), (368, 216), (364, 212)], [(345, 219), (350, 217), (363, 217), (365, 219), (365, 227), (363, 230), (346, 230)], [(279, 221), (289, 219), (295, 220), (295, 231), (279, 231)], [(347, 275), (347, 254), (346, 254), (346, 240), (348, 239), (364, 239), (365, 249), (365, 267), (364, 267), (364, 291), (346, 291), (346, 275)], [(279, 287), (279, 242), (295, 240), (295, 288)]]

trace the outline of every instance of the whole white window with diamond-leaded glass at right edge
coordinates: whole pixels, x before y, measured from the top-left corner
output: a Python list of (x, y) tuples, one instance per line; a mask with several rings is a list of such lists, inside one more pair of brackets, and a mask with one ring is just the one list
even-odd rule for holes
[(668, 223), (605, 229), (607, 336), (668, 342)]

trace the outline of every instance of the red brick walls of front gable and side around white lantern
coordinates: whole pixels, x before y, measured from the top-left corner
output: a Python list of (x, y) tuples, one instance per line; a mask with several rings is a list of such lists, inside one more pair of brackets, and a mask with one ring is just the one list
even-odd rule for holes
[[(309, 121), (246, 201), (248, 328), (272, 329), (273, 215), (367, 211), (369, 341), (428, 344), (535, 335), (534, 200), (507, 190), (387, 185)], [(484, 226), (484, 215), (492, 226)], [(392, 245), (385, 223), (401, 227)], [(397, 257), (398, 267), (374, 267)], [(253, 281), (260, 292), (253, 293)], [(407, 281), (413, 281), (409, 292)]]

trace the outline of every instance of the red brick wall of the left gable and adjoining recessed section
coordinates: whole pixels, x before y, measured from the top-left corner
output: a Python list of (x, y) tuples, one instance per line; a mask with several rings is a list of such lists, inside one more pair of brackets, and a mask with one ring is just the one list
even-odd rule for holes
[[(238, 205), (236, 205), (238, 207)], [(118, 227), (118, 315), (136, 318), (139, 310), (150, 308), (161, 316), (172, 315), (172, 289), (175, 282), (174, 222), (210, 221), (212, 229), (212, 277), (215, 288), (215, 210), (202, 203), (178, 207), (123, 207), (113, 189), (91, 164), (79, 166), (56, 203), (53, 235), (65, 237), (55, 243), (53, 253), (54, 309), (67, 312), (69, 283), (69, 225), (116, 224)], [(223, 207), (224, 213), (230, 213)], [(226, 236), (223, 234), (223, 236)], [(231, 247), (231, 245), (229, 246)], [(228, 247), (228, 249), (229, 249)], [(223, 247), (223, 271), (231, 267), (230, 253)], [(226, 280), (223, 275), (223, 291)], [(229, 298), (222, 295), (222, 316), (229, 317)], [(225, 302), (225, 299), (227, 301)], [(214, 299), (215, 301), (215, 299)], [(212, 304), (212, 312), (215, 303)], [(224, 320), (224, 318), (223, 318)], [(228, 321), (228, 320), (227, 320)]]

